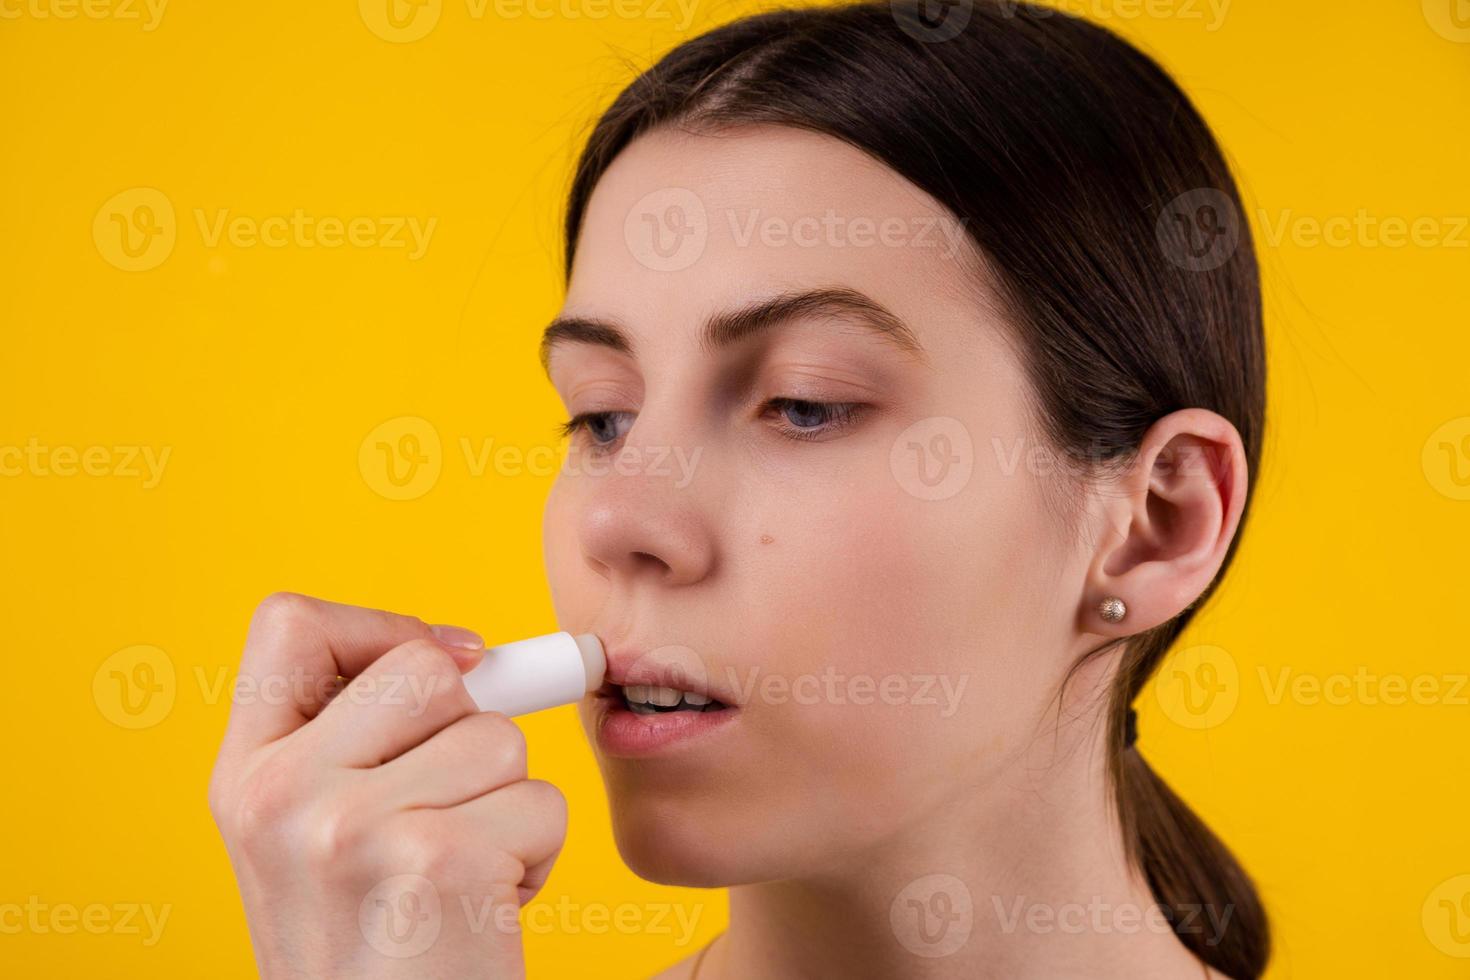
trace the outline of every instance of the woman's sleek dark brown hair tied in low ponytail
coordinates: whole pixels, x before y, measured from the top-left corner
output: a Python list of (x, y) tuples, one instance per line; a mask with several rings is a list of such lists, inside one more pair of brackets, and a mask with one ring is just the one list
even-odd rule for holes
[[(1260, 281), (1200, 113), (1150, 57), (1082, 19), (1017, 0), (928, 10), (923, 0), (772, 10), (673, 48), (588, 138), (567, 203), (567, 275), (592, 188), (639, 134), (742, 123), (826, 134), (963, 222), (1055, 447), (1088, 464), (1126, 460), (1152, 422), (1202, 407), (1239, 430), (1254, 482)], [(1110, 692), (1110, 774), (1129, 858), (1179, 939), (1244, 980), (1270, 955), (1251, 880), (1125, 746), (1130, 704), (1198, 604), (1127, 639)], [(1200, 929), (1202, 914), (1223, 933)]]

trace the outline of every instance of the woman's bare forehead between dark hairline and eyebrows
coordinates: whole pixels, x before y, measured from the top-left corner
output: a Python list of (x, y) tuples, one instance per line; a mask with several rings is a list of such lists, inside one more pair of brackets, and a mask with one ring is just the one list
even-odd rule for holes
[(659, 129), (598, 181), (564, 313), (703, 322), (759, 297), (832, 288), (908, 322), (945, 300), (973, 311), (976, 267), (963, 220), (839, 140), (788, 126)]

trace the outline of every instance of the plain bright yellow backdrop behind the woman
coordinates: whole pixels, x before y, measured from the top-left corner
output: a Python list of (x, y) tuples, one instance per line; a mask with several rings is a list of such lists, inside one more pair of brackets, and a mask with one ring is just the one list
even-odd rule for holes
[[(151, 946), (9, 929), (0, 974), (244, 977), (204, 786), (251, 607), (295, 589), (491, 641), (554, 629), (539, 513), (562, 414), (535, 341), (560, 298), (578, 137), (632, 66), (753, 7), (698, 3), (684, 24), (672, 0), (481, 16), (442, 0), (422, 12), (432, 29), (400, 41), (350, 0), (176, 0), (151, 29), (141, 1), (98, 3), (0, 4), (0, 447), (169, 457), (151, 486), (122, 454), (94, 454), (96, 475), (0, 478), (0, 907), (169, 918)], [(1197, 98), (1266, 264), (1272, 435), (1254, 525), (1191, 651), (1141, 704), (1144, 751), (1255, 876), (1272, 977), (1466, 976), (1470, 9), (1064, 6), (1155, 53)], [(134, 188), (175, 210), (172, 251), (144, 270), (121, 269), (107, 235), (137, 201), (104, 206)], [(295, 209), (437, 225), (417, 259), (210, 245), (198, 226)], [(1419, 244), (1383, 225), (1426, 217)], [(375, 444), (363, 464), (360, 450), (404, 416), (438, 435), (440, 472), (390, 500)], [(410, 423), (394, 425), (397, 438)], [(512, 454), (476, 473), (462, 441)], [(68, 470), (65, 451), (49, 458)], [(109, 658), (138, 645), (173, 677), (154, 674), (156, 717), (129, 729)], [(1205, 661), (1225, 699), (1191, 714), (1180, 677), (1204, 679)], [(1420, 696), (1392, 704), (1391, 677)], [(525, 730), (532, 774), (572, 801), (538, 899), (572, 904), (572, 929), (528, 934), (531, 976), (647, 976), (716, 934), (722, 892), (622, 867), (573, 710)], [(578, 914), (660, 904), (700, 915), (689, 943)]]

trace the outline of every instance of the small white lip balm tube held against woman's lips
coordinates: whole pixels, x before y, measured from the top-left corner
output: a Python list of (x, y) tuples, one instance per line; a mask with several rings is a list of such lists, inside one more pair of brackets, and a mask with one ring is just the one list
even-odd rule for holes
[(465, 674), (481, 711), (529, 714), (581, 701), (603, 686), (607, 657), (592, 633), (547, 633), (485, 649)]

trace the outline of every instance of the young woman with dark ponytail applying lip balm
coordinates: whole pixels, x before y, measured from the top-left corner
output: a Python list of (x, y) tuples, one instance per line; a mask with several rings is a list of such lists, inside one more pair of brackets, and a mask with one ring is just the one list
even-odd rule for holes
[[(1250, 880), (1132, 730), (1264, 413), (1235, 184), (1167, 75), (1008, 0), (763, 13), (619, 96), (566, 229), (556, 610), (607, 649), (623, 858), (731, 896), (660, 976), (1260, 976)], [(534, 893), (564, 802), (453, 683), (478, 648), (262, 605), (243, 676), (365, 695), (231, 718), (210, 801), (268, 976), (520, 971), (513, 921), (451, 909)], [(370, 696), (404, 676), (447, 683)], [(390, 899), (442, 904), (412, 956), (354, 927)]]

